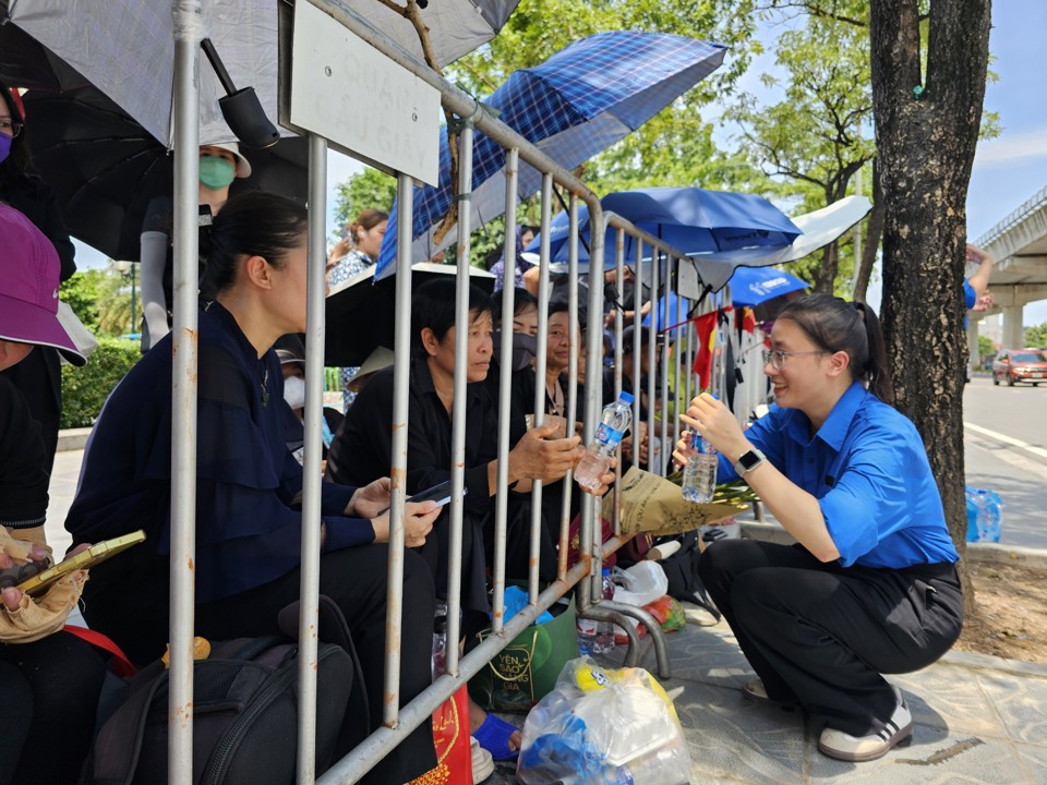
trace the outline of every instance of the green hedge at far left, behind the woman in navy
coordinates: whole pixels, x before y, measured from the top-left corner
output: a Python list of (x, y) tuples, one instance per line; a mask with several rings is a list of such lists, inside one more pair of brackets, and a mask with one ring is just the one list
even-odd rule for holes
[(136, 341), (99, 338), (84, 367), (63, 364), (60, 427), (93, 425), (106, 398), (141, 357)]

